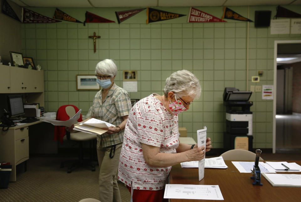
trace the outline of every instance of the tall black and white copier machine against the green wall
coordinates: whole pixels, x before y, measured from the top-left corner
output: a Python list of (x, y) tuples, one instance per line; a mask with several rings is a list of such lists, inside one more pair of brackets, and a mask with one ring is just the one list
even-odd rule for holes
[[(226, 132), (224, 132), (224, 149), (247, 149), (252, 151), (252, 118), (249, 101), (251, 91), (239, 91), (236, 88), (225, 88), (223, 94), (226, 106)], [(248, 143), (246, 143), (246, 141)]]

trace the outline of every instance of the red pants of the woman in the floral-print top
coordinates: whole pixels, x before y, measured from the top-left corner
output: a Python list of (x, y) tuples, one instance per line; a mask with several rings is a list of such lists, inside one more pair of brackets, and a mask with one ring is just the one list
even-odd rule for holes
[[(132, 187), (126, 185), (129, 189), (129, 193), (132, 194)], [(138, 190), (133, 189), (133, 202), (168, 202), (168, 199), (163, 199), (164, 189), (161, 190)]]

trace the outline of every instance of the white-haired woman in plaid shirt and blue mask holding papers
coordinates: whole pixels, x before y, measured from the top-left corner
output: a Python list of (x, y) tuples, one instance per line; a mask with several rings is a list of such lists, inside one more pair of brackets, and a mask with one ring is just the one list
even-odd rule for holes
[(94, 97), (91, 115), (115, 125), (105, 128), (108, 132), (97, 135), (99, 200), (106, 202), (121, 202), (116, 174), (124, 127), (132, 107), (129, 94), (114, 83), (116, 74), (116, 64), (110, 59), (96, 65), (96, 81), (102, 89)]

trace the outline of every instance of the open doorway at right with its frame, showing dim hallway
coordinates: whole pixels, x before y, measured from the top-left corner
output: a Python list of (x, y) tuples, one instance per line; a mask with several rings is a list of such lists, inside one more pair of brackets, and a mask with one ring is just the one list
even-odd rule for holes
[(274, 45), (273, 153), (301, 152), (301, 40)]

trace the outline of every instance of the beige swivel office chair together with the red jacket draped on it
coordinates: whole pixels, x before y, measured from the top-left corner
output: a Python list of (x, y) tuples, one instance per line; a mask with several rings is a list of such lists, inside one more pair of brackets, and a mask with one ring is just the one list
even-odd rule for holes
[[(56, 120), (60, 121), (66, 121), (70, 119), (70, 117), (73, 117), (79, 109), (74, 105), (63, 105), (61, 106), (56, 113)], [(82, 121), (82, 115), (77, 120), (78, 122)], [(77, 132), (77, 133), (70, 133), (65, 130), (65, 127), (56, 126), (58, 128), (55, 128), (55, 132), (59, 133), (56, 135), (59, 135), (59, 138), (61, 140), (72, 140), (77, 141), (79, 144), (79, 156), (78, 160), (71, 161), (71, 165), (68, 167), (67, 173), (71, 173), (72, 170), (81, 167), (81, 166), (90, 166), (92, 171), (95, 171), (95, 165), (92, 164), (91, 161), (83, 158), (83, 142), (84, 141), (90, 141), (90, 149), (91, 149), (91, 140), (96, 139), (96, 134), (89, 134), (85, 132)], [(66, 135), (65, 135), (66, 134)], [(91, 157), (91, 155), (90, 155)], [(65, 161), (61, 163), (61, 168), (64, 167), (65, 163), (70, 163), (70, 161)]]

